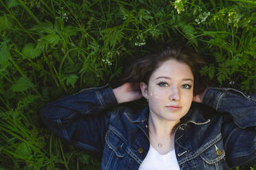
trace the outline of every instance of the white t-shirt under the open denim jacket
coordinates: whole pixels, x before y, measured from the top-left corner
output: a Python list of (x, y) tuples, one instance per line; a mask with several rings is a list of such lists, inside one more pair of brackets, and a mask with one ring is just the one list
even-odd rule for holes
[(175, 149), (161, 155), (151, 145), (146, 158), (142, 161), (138, 170), (180, 170), (175, 155)]

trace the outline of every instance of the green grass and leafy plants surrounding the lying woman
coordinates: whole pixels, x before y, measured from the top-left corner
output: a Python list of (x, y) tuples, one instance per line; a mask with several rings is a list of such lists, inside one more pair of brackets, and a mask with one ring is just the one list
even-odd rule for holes
[(0, 0), (0, 11), (0, 169), (99, 169), (51, 134), (39, 109), (114, 86), (123, 59), (163, 43), (199, 51), (217, 86), (256, 93), (255, 1)]

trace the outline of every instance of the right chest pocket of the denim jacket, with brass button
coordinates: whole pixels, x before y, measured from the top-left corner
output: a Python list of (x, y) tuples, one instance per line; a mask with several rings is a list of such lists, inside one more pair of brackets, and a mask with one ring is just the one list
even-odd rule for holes
[[(216, 138), (219, 138), (217, 136)], [(215, 143), (206, 144), (204, 147), (206, 148), (202, 153), (200, 154), (200, 157), (204, 162), (207, 164), (213, 165), (222, 160), (225, 156), (224, 147), (222, 145), (221, 138), (219, 140), (216, 140)]]

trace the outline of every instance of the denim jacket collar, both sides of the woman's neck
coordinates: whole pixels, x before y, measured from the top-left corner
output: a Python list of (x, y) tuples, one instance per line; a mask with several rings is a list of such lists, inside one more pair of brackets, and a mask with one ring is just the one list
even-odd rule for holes
[[(195, 125), (204, 125), (209, 123), (211, 120), (204, 117), (202, 104), (192, 103), (189, 112), (180, 119), (180, 123), (193, 123)], [(134, 113), (125, 112), (127, 119), (132, 123), (145, 123), (149, 118), (149, 106), (147, 105), (142, 110)]]

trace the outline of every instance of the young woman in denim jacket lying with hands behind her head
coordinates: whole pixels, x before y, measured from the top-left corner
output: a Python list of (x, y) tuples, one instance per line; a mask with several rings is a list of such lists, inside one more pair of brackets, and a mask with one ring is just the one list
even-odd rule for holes
[[(167, 49), (138, 60), (122, 86), (81, 90), (45, 105), (41, 118), (76, 147), (102, 153), (100, 169), (256, 163), (256, 95), (205, 88), (203, 64), (196, 53)], [(141, 97), (148, 101), (143, 110), (118, 106)]]

